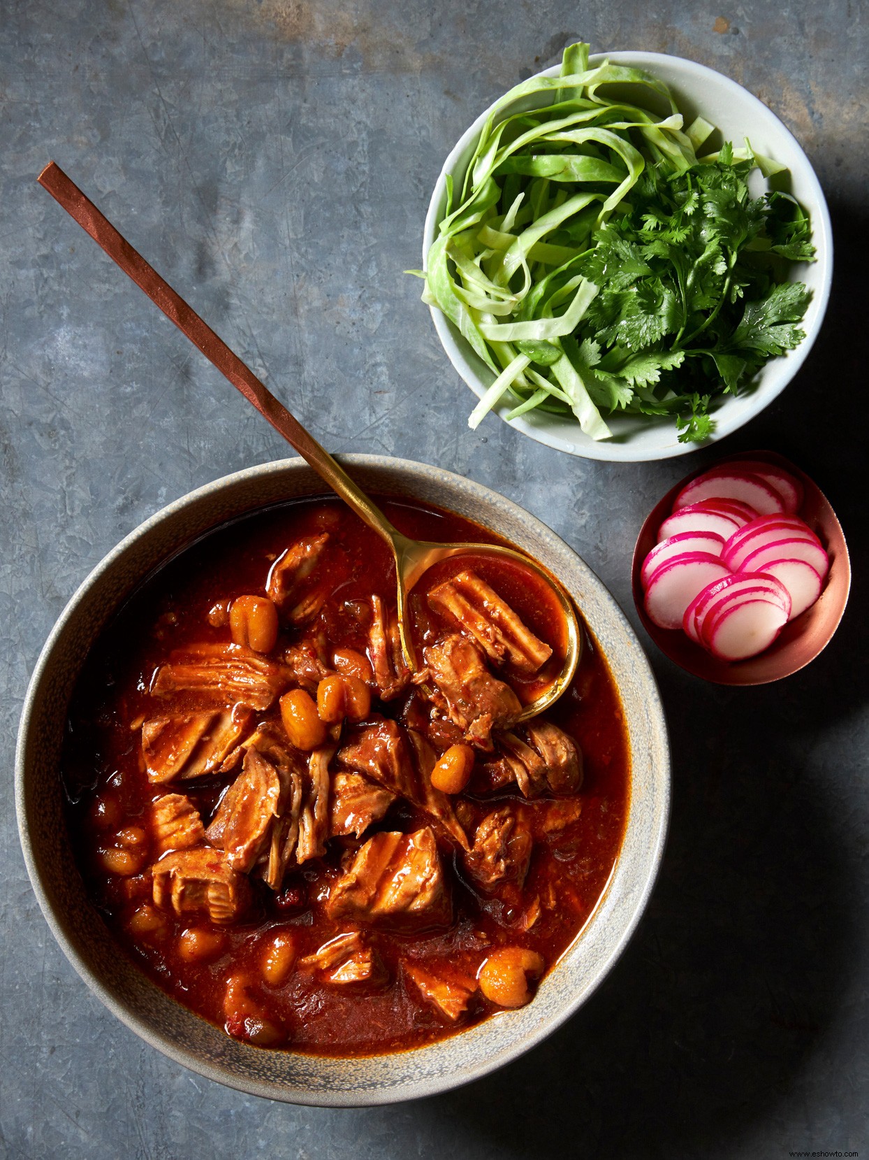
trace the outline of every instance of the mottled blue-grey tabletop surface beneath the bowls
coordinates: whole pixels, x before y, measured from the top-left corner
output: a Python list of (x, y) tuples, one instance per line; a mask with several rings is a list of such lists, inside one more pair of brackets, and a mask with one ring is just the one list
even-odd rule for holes
[[(866, 12), (859, 0), (0, 2), (0, 1152), (869, 1153)], [(773, 448), (826, 490), (853, 550), (850, 609), (824, 655), (780, 686), (708, 687), (652, 648), (674, 755), (663, 873), (627, 954), (546, 1044), (412, 1104), (246, 1097), (140, 1043), (67, 965), (19, 850), (13, 747), (43, 640), (97, 560), (167, 501), (286, 449), (35, 177), (50, 158), (64, 166), (328, 448), (497, 488), (569, 541), (636, 623), (628, 561), (642, 519), (713, 452), (609, 466), (496, 419), (468, 432), (470, 394), (401, 273), (421, 262), (428, 196), (460, 132), (579, 37), (720, 68), (817, 167), (838, 246), (824, 333), (784, 396), (721, 450)]]

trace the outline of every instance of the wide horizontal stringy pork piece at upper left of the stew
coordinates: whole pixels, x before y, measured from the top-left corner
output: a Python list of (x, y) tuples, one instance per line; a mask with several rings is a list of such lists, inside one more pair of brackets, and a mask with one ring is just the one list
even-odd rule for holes
[(268, 709), (292, 681), (284, 665), (241, 645), (200, 644), (173, 653), (151, 682), (155, 697), (184, 694), (199, 709), (226, 709), (236, 702)]

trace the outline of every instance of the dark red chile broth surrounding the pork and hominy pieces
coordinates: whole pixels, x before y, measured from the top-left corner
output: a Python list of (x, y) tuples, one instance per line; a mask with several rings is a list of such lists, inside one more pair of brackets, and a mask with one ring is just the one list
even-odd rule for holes
[[(387, 516), (407, 535), (432, 541), (499, 542), (485, 529), (452, 513), (404, 500), (381, 502)], [(342, 854), (341, 848), (333, 850), (333, 847), (341, 840), (331, 840), (324, 858), (314, 858), (291, 871), (285, 884), (290, 890), (284, 894), (285, 899), (291, 898), (290, 908), (279, 907), (272, 892), (257, 882), (254, 907), (234, 926), (210, 928), (207, 916), (178, 918), (167, 911), (163, 928), (151, 935), (133, 935), (129, 922), (137, 906), (149, 900), (147, 867), (153, 855), (143, 863), (145, 872), (126, 876), (109, 872), (101, 856), (116, 843), (116, 835), (124, 827), (147, 831), (148, 805), (159, 791), (187, 793), (207, 825), (220, 791), (234, 775), (178, 785), (148, 783), (138, 725), (143, 717), (159, 712), (147, 691), (152, 674), (171, 650), (184, 644), (227, 641), (228, 629), (212, 628), (206, 618), (216, 601), (246, 593), (263, 594), (275, 558), (299, 537), (323, 529), (329, 530), (339, 549), (331, 574), (334, 590), (326, 608), (330, 643), (364, 652), (365, 639), (346, 635), (350, 622), (342, 608), (348, 601), (368, 601), (372, 593), (380, 593), (395, 607), (394, 567), (388, 549), (339, 502), (322, 498), (304, 500), (221, 528), (152, 575), (103, 631), (79, 679), (71, 706), (63, 780), (70, 834), (90, 897), (133, 962), (178, 1002), (219, 1027), (225, 1021), (222, 1000), (227, 978), (247, 971), (261, 980), (260, 963), (268, 936), (277, 929), (291, 930), (302, 956), (346, 928), (346, 923), (329, 920), (322, 907)], [(422, 583), (430, 587), (451, 567), (457, 572), (467, 566), (467, 559), (446, 561)], [(520, 574), (491, 559), (474, 561), (473, 566), (557, 655), (558, 621), (545, 586), (533, 582), (528, 573)], [(555, 659), (552, 665), (557, 668)], [(531, 695), (533, 690), (526, 690), (525, 696)], [(395, 711), (392, 706), (401, 703), (400, 698), (378, 709), (389, 715)], [(587, 631), (574, 683), (548, 716), (583, 751), (584, 781), (578, 792), (582, 814), (567, 829), (535, 841), (521, 894), (518, 889), (505, 897), (476, 892), (461, 876), (458, 856), (441, 846), (453, 897), (453, 925), (446, 933), (425, 931), (416, 936), (378, 931), (375, 944), (390, 980), (384, 989), (348, 993), (299, 971), (279, 987), (260, 981), (255, 988), (260, 1001), (287, 1031), (284, 1046), (327, 1056), (390, 1052), (445, 1038), (498, 1009), (477, 992), (466, 1013), (452, 1023), (421, 996), (402, 972), (399, 959), (408, 948), (412, 948), (415, 957), (431, 954), (443, 960), (470, 956), (482, 962), (497, 945), (527, 947), (543, 956), (548, 970), (574, 941), (613, 870), (629, 800), (622, 708), (606, 659)], [(516, 785), (511, 793), (501, 791), (494, 798), (462, 795), (473, 809), (474, 822), (466, 826), (472, 839), (476, 822), (485, 813), (505, 799), (516, 799), (517, 795)], [(419, 822), (425, 824), (424, 817), (419, 819), (412, 807), (399, 800), (364, 839), (378, 829), (408, 831)], [(527, 900), (534, 897), (542, 901), (540, 918), (531, 929), (523, 930), (517, 923)], [(299, 899), (306, 905), (298, 907)], [(214, 960), (190, 963), (178, 954), (180, 935), (193, 925), (225, 931), (224, 951)], [(424, 957), (422, 960), (425, 962)]]

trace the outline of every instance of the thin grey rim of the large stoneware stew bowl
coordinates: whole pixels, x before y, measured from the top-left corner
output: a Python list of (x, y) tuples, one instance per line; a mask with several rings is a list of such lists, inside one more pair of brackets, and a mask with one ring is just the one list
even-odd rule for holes
[[(118, 998), (114, 991), (107, 986), (102, 979), (90, 969), (89, 964), (82, 952), (78, 949), (74, 938), (65, 929), (63, 913), (56, 912), (52, 905), (51, 898), (49, 896), (49, 890), (45, 883), (45, 876), (43, 869), (41, 868), (34, 843), (31, 841), (29, 826), (28, 826), (28, 761), (29, 761), (29, 746), (31, 744), (30, 732), (31, 724), (35, 716), (35, 710), (38, 703), (39, 694), (42, 691), (43, 682), (46, 679), (50, 666), (52, 664), (52, 654), (58, 641), (63, 638), (65, 631), (68, 629), (70, 624), (74, 621), (79, 606), (82, 600), (90, 593), (92, 588), (107, 574), (111, 573), (111, 570), (123, 559), (123, 557), (130, 551), (130, 549), (138, 544), (144, 537), (149, 532), (159, 528), (167, 521), (176, 519), (181, 513), (202, 502), (202, 500), (207, 499), (211, 495), (219, 494), (225, 488), (232, 488), (234, 486), (241, 485), (244, 481), (251, 479), (263, 478), (269, 474), (280, 474), (283, 472), (311, 472), (307, 464), (300, 458), (290, 458), (283, 461), (270, 462), (265, 464), (260, 464), (256, 466), (247, 467), (241, 471), (233, 472), (228, 476), (224, 476), (212, 483), (205, 484), (187, 494), (180, 496), (178, 499), (166, 505), (153, 515), (148, 516), (143, 521), (137, 528), (134, 528), (129, 535), (126, 535), (115, 548), (112, 548), (101, 560), (90, 570), (85, 580), (78, 586), (71, 599), (67, 601), (66, 607), (54, 623), (41, 653), (39, 658), (34, 668), (31, 679), (28, 684), (27, 695), (21, 712), (21, 722), (19, 728), (16, 753), (15, 753), (15, 809), (16, 819), (19, 827), (19, 838), (21, 841), (21, 848), (24, 857), (24, 863), (27, 867), (28, 876), (30, 878), (34, 893), (36, 894), (39, 908), (42, 909), (43, 916), (45, 918), (54, 938), (59, 943), (65, 956), (88, 985), (92, 992), (104, 1003), (109, 1010), (121, 1020), (127, 1028), (134, 1031), (141, 1039), (148, 1043), (151, 1046), (156, 1047), (175, 1063), (182, 1064), (190, 1071), (197, 1074), (204, 1075), (207, 1079), (214, 1080), (225, 1086), (235, 1088), (236, 1090), (244, 1092), (251, 1095), (263, 1096), (266, 1099), (283, 1100), (290, 1103), (299, 1103), (307, 1105), (320, 1105), (320, 1107), (368, 1107), (400, 1102), (410, 1099), (417, 1099), (429, 1095), (436, 1095), (443, 1092), (447, 1092), (454, 1087), (459, 1087), (463, 1083), (470, 1082), (489, 1074), (496, 1068), (504, 1066), (511, 1060), (524, 1054), (531, 1047), (535, 1046), (553, 1031), (556, 1030), (562, 1023), (564, 1023), (593, 994), (594, 991), (600, 986), (604, 979), (607, 977), (612, 967), (615, 965), (620, 958), (622, 951), (627, 947), (628, 942), (633, 937), (642, 916), (645, 912), (649, 898), (655, 887), (662, 861), (664, 855), (664, 849), (666, 846), (666, 838), (670, 824), (670, 806), (671, 806), (671, 760), (670, 760), (670, 746), (666, 718), (664, 716), (663, 704), (660, 701), (660, 694), (657, 687), (657, 682), (651, 669), (651, 665), (645, 654), (645, 651), (637, 638), (633, 626), (630, 625), (627, 616), (615, 602), (615, 599), (608, 592), (608, 589), (603, 585), (603, 582), (597, 578), (591, 568), (582, 560), (580, 557), (565, 544), (555, 532), (552, 531), (541, 520), (531, 513), (526, 512), (519, 505), (514, 503), (512, 500), (506, 499), (506, 496), (501, 495), (497, 492), (492, 492), (490, 488), (475, 480), (467, 479), (466, 477), (457, 476), (453, 472), (444, 471), (443, 469), (431, 467), (426, 464), (419, 464), (414, 461), (399, 459), (392, 456), (373, 456), (373, 455), (344, 455), (341, 456), (342, 464), (352, 472), (353, 467), (358, 469), (372, 469), (372, 470), (386, 470), (386, 471), (407, 471), (410, 470), (411, 473), (419, 478), (428, 476), (433, 479), (434, 483), (443, 481), (445, 484), (452, 483), (463, 491), (466, 494), (470, 493), (481, 500), (495, 500), (501, 505), (502, 509), (506, 513), (513, 513), (524, 520), (531, 520), (535, 525), (535, 530), (542, 530), (547, 541), (550, 541), (554, 545), (558, 545), (562, 550), (567, 550), (582, 565), (582, 568), (589, 573), (589, 575), (599, 586), (599, 595), (605, 600), (608, 607), (608, 611), (614, 616), (616, 628), (619, 628), (622, 633), (627, 633), (628, 639), (636, 652), (636, 660), (644, 667), (643, 673), (643, 687), (644, 691), (649, 698), (647, 704), (647, 719), (650, 723), (650, 746), (655, 749), (656, 756), (656, 776), (653, 778), (653, 789), (658, 793), (658, 799), (652, 800), (655, 806), (655, 824), (651, 832), (651, 842), (647, 853), (645, 863), (645, 877), (642, 883), (636, 884), (630, 891), (630, 904), (628, 920), (623, 923), (619, 937), (612, 943), (607, 943), (607, 950), (600, 964), (596, 966), (594, 976), (591, 981), (585, 985), (578, 995), (571, 996), (571, 999), (562, 1005), (560, 1010), (555, 1014), (555, 1017), (536, 1027), (531, 1034), (526, 1034), (524, 1037), (518, 1036), (505, 1050), (499, 1051), (494, 1058), (488, 1058), (482, 1061), (475, 1063), (473, 1066), (458, 1068), (454, 1073), (441, 1074), (432, 1078), (426, 1075), (423, 1079), (417, 1079), (409, 1082), (403, 1082), (400, 1087), (384, 1085), (382, 1087), (371, 1087), (366, 1088), (363, 1093), (363, 1099), (360, 1099), (360, 1093), (358, 1089), (344, 1090), (344, 1089), (320, 1089), (320, 1088), (306, 1088), (306, 1089), (289, 1089), (285, 1086), (280, 1086), (277, 1089), (277, 1085), (273, 1081), (260, 1080), (249, 1075), (240, 1076), (239, 1074), (229, 1073), (228, 1070), (222, 1070), (218, 1064), (202, 1060), (198, 1056), (193, 1053), (192, 1050), (187, 1050), (180, 1046), (178, 1043), (169, 1038), (160, 1028), (149, 1023), (146, 1018), (139, 1016), (134, 1010), (127, 1007), (121, 998)], [(313, 476), (313, 472), (312, 472)], [(322, 492), (315, 494), (326, 493), (327, 488), (323, 486)], [(312, 493), (314, 494), (314, 493)], [(433, 501), (437, 502), (437, 501)], [(269, 505), (263, 505), (266, 507)], [(250, 508), (250, 512), (257, 510), (257, 508)], [(213, 527), (219, 527), (224, 520), (218, 520)], [(484, 522), (484, 517), (483, 517)], [(209, 529), (211, 530), (211, 529)], [(204, 534), (207, 534), (204, 532)], [(198, 537), (195, 537), (198, 538)], [(191, 541), (193, 542), (193, 541)], [(178, 551), (185, 550), (189, 544), (183, 545)], [(167, 553), (166, 559), (170, 558), (175, 553)], [(138, 578), (133, 587), (136, 587), (149, 571), (144, 573)], [(123, 603), (126, 595), (119, 599), (111, 608), (109, 616), (114, 615), (117, 608)], [(625, 847), (625, 841), (627, 840), (628, 827), (634, 810), (634, 793), (633, 793), (633, 776), (631, 776), (631, 789), (629, 792), (629, 807), (628, 807), (628, 820), (626, 822), (626, 839), (622, 842), (622, 849)], [(586, 921), (585, 926), (577, 935), (577, 940), (571, 943), (570, 948), (564, 951), (558, 963), (563, 962), (570, 954), (572, 947), (575, 947), (579, 938), (585, 934), (586, 929), (594, 922), (596, 916), (599, 914), (606, 899), (611, 893), (611, 886), (616, 877), (616, 871), (619, 869), (619, 862), (621, 858), (621, 851), (619, 857), (616, 857), (613, 872), (611, 873), (609, 880), (607, 882), (598, 902)], [(143, 977), (147, 979), (147, 976)], [(149, 979), (148, 983), (156, 991), (159, 988)], [(163, 992), (160, 992), (165, 994)], [(178, 1005), (181, 1006), (181, 1005)], [(197, 1016), (199, 1018), (200, 1016)], [(207, 1022), (207, 1021), (204, 1021)], [(490, 1020), (484, 1021), (483, 1024), (491, 1022)], [(468, 1029), (473, 1031), (474, 1029)], [(455, 1043), (462, 1038), (463, 1032), (459, 1032), (457, 1036), (451, 1036), (445, 1041), (439, 1041), (440, 1044)], [(437, 1046), (437, 1044), (434, 1045)], [(256, 1051), (257, 1049), (251, 1049)], [(414, 1052), (423, 1052), (426, 1047), (422, 1049), (409, 1049), (407, 1052), (396, 1052), (394, 1054), (408, 1056)], [(283, 1054), (283, 1053), (282, 1053)], [(292, 1058), (292, 1051), (286, 1052), (289, 1057)], [(298, 1058), (298, 1057), (297, 1057)], [(334, 1057), (333, 1057), (334, 1058)], [(365, 1057), (360, 1057), (365, 1058)], [(389, 1059), (390, 1056), (373, 1057), (375, 1059)], [(341, 1060), (341, 1063), (350, 1063), (352, 1060)]]

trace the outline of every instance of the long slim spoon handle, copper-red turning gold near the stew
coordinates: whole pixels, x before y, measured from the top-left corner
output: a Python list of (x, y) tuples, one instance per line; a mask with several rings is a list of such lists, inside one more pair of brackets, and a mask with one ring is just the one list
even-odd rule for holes
[(253, 403), (256, 409), (271, 426), (284, 436), (299, 455), (308, 462), (316, 473), (337, 494), (350, 505), (379, 535), (393, 543), (399, 532), (393, 528), (380, 509), (371, 502), (341, 467), (329, 452), (322, 448), (283, 403), (279, 403), (254, 372), (234, 354), (216, 334), (192, 306), (189, 306), (169, 283), (160, 277), (141, 254), (133, 249), (111, 222), (105, 218), (79, 187), (67, 177), (64, 171), (50, 161), (38, 176), (39, 184), (48, 189), (51, 196), (75, 218), (79, 225), (89, 233), (94, 241), (102, 246), (109, 258), (116, 262), (124, 274), (145, 291), (151, 300), (162, 310), (166, 317), (175, 322), (177, 328), (202, 350), (209, 362), (225, 375), (233, 386)]

